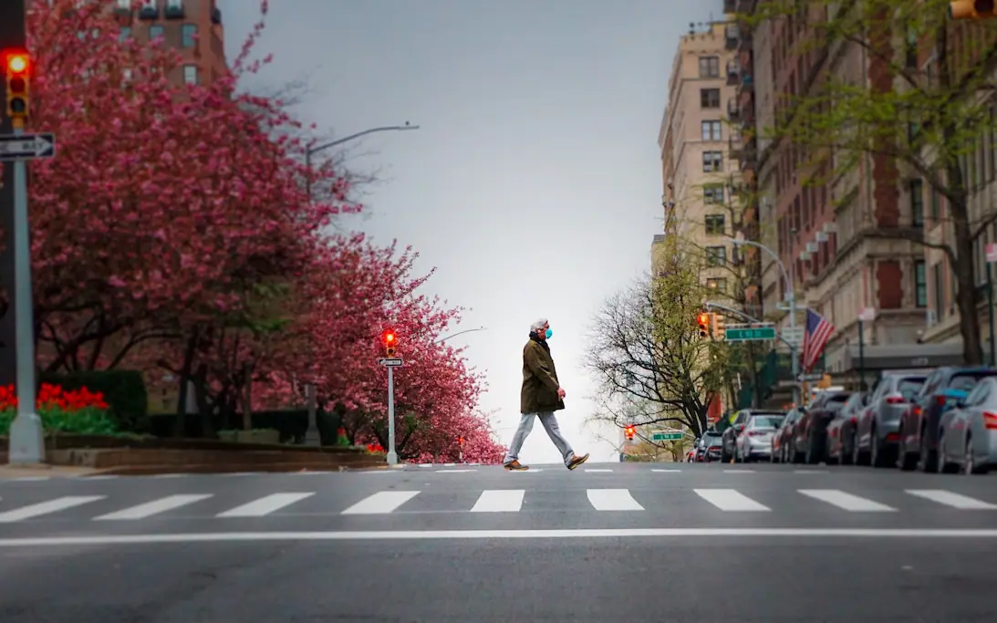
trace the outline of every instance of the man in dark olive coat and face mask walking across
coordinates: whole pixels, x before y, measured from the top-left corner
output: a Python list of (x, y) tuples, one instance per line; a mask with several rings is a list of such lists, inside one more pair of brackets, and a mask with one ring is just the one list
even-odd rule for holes
[(522, 391), (519, 393), (519, 428), (512, 437), (512, 445), (502, 465), (512, 471), (522, 471), (529, 467), (519, 463), (519, 450), (526, 437), (533, 430), (533, 420), (540, 419), (540, 424), (560, 451), (564, 466), (574, 469), (588, 461), (588, 455), (576, 457), (571, 445), (560, 433), (554, 412), (564, 409), (564, 390), (557, 382), (557, 370), (554, 360), (550, 357), (550, 347), (547, 340), (553, 334), (550, 323), (541, 318), (529, 327), (529, 341), (522, 349)]

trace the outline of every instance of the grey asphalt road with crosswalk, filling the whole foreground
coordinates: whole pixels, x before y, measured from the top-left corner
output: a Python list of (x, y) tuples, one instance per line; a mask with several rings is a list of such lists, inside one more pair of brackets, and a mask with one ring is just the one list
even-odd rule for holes
[(997, 618), (995, 477), (586, 467), (2, 481), (0, 621)]

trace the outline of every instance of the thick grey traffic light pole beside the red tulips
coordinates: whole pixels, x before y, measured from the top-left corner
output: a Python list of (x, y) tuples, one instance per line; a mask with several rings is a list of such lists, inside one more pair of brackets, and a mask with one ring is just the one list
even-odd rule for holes
[[(15, 136), (24, 131), (15, 129)], [(14, 162), (14, 318), (17, 322), (17, 416), (10, 425), (11, 464), (45, 462), (42, 419), (35, 413), (35, 319), (31, 293), (31, 238), (28, 226), (28, 173)]]

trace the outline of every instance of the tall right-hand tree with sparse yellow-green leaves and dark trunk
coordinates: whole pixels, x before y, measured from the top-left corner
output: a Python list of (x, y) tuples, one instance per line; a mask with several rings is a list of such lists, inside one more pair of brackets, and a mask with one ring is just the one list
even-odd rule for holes
[[(997, 112), (992, 95), (997, 27), (953, 22), (947, 0), (763, 0), (750, 28), (765, 22), (806, 24), (798, 50), (816, 71), (796, 94), (777, 94), (776, 121), (762, 128), (776, 149), (800, 155), (808, 184), (833, 188), (835, 209), (855, 210), (870, 176), (919, 178), (924, 195), (941, 199), (925, 226), (866, 200), (853, 236), (909, 240), (948, 258), (956, 283), (964, 357), (982, 363), (974, 245), (985, 241), (997, 206), (972, 198), (993, 180)], [(847, 69), (861, 68), (862, 71)], [(933, 211), (933, 210), (932, 210)], [(840, 218), (840, 216), (839, 216)], [(947, 235), (926, 235), (942, 225)]]

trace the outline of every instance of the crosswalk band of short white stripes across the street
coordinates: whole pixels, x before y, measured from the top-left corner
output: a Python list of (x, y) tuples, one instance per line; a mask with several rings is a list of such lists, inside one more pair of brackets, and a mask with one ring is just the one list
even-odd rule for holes
[[(690, 491), (692, 494), (690, 494)], [(556, 494), (556, 499), (550, 497)], [(280, 491), (240, 500), (230, 507), (220, 508), (220, 498), (214, 493), (184, 493), (125, 502), (115, 495), (63, 495), (43, 501), (19, 505), (0, 498), (0, 523), (17, 523), (36, 519), (62, 518), (75, 513), (74, 518), (93, 521), (138, 521), (182, 511), (184, 516), (230, 519), (237, 517), (266, 517), (281, 514), (322, 515), (389, 515), (406, 512), (471, 512), (514, 513), (524, 509), (551, 509), (570, 507), (572, 510), (600, 512), (668, 512), (676, 507), (693, 508), (704, 512), (724, 513), (769, 512), (799, 510), (805, 504), (817, 508), (848, 513), (889, 513), (923, 508), (944, 508), (951, 511), (997, 511), (997, 492), (984, 497), (973, 497), (947, 489), (902, 489), (882, 491), (890, 503), (873, 499), (875, 495), (858, 495), (835, 488), (801, 488), (756, 493), (736, 488), (692, 489), (637, 489), (588, 488), (570, 491), (542, 489), (502, 488), (470, 491), (464, 497), (440, 495), (437, 491), (379, 490), (357, 495), (356, 499), (323, 498), (316, 491)], [(472, 502), (473, 496), (476, 496)], [(425, 497), (425, 501), (420, 501)], [(758, 499), (764, 498), (766, 501)], [(225, 496), (231, 500), (230, 496)], [(138, 503), (136, 503), (138, 502)], [(778, 503), (777, 503), (778, 502)], [(301, 504), (313, 503), (306, 510)], [(414, 504), (414, 505), (413, 505)], [(697, 505), (699, 504), (699, 505)], [(99, 508), (88, 512), (88, 508)], [(83, 511), (81, 514), (80, 511)]]

